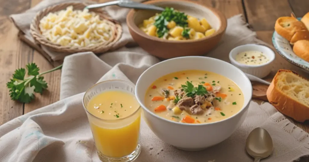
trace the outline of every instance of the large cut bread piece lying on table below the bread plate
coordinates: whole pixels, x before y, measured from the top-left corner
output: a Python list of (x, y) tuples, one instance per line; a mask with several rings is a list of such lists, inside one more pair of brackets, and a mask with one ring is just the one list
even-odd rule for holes
[(309, 80), (290, 70), (279, 70), (269, 85), (268, 101), (296, 121), (309, 119)]

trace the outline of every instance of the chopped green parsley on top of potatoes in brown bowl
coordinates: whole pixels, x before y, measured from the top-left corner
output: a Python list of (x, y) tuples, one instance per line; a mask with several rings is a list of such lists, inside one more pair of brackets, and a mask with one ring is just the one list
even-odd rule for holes
[(188, 17), (183, 12), (175, 11), (174, 8), (166, 7), (161, 15), (155, 17), (155, 27), (157, 27), (157, 35), (163, 37), (167, 32), (167, 24), (174, 21), (180, 27), (188, 26)]

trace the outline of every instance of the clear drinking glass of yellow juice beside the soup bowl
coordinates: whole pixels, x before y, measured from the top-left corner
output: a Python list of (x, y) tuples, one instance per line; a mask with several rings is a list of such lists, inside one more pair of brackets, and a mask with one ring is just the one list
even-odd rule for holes
[[(129, 162), (135, 160), (141, 152), (140, 120), (141, 107), (124, 118), (106, 120), (91, 114), (88, 103), (100, 93), (106, 91), (125, 91), (135, 96), (135, 85), (123, 80), (103, 81), (89, 88), (83, 97), (83, 106), (98, 156), (103, 162)], [(107, 98), (101, 99), (110, 103)], [(122, 106), (122, 105), (121, 105)]]

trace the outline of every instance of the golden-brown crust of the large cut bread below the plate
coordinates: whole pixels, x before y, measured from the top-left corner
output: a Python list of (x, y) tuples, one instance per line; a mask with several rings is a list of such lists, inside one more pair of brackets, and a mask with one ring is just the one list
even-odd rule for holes
[(277, 76), (282, 72), (298, 75), (290, 70), (279, 70), (266, 91), (267, 99), (282, 114), (285, 114), (298, 122), (304, 122), (309, 119), (309, 107), (290, 98), (275, 86), (278, 82)]

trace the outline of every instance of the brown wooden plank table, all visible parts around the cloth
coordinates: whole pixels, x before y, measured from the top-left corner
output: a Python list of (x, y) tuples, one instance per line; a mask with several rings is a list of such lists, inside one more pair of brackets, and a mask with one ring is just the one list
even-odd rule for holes
[[(104, 0), (100, 0), (103, 2)], [(256, 31), (258, 38), (271, 43), (274, 23), (280, 16), (289, 16), (294, 11), (297, 17), (309, 12), (309, 0), (196, 0), (207, 6), (222, 11), (226, 18), (243, 14), (249, 27)], [(18, 30), (8, 18), (9, 15), (22, 13), (35, 6), (40, 0), (0, 0), (0, 125), (22, 114), (36, 110), (59, 100), (60, 71), (45, 74), (49, 83), (48, 90), (43, 95), (37, 95), (34, 102), (22, 104), (10, 99), (6, 82), (17, 68), (24, 68), (29, 62), (35, 62), (41, 72), (52, 69), (53, 66), (37, 51), (21, 42)], [(272, 77), (278, 69), (291, 69), (306, 75), (298, 67), (290, 64), (278, 54), (273, 64)], [(307, 74), (308, 76), (308, 74)], [(294, 122), (294, 121), (293, 121)], [(309, 123), (294, 122), (303, 130), (309, 132)], [(309, 158), (302, 158), (302, 162)]]

